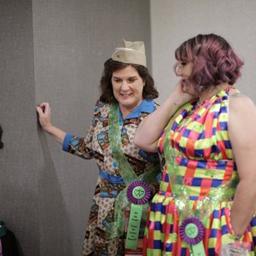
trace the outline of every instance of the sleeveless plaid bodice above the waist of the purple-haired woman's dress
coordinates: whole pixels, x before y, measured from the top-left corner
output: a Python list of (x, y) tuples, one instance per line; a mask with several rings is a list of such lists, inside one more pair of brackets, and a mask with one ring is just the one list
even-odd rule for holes
[(230, 88), (218, 91), (201, 105), (196, 101), (185, 104), (166, 126), (158, 143), (163, 163), (162, 191), (172, 192), (165, 163), (165, 140), (172, 143), (178, 166), (176, 175), (183, 177), (191, 197), (205, 196), (211, 188), (237, 178), (228, 133)]

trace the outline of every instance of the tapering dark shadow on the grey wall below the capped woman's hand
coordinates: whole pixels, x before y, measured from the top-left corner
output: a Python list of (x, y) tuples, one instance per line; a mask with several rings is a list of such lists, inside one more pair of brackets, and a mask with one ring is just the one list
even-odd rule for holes
[[(72, 230), (61, 195), (54, 161), (49, 152), (46, 134), (38, 124), (39, 152), (39, 200), (40, 200), (40, 255), (73, 255)], [(64, 170), (65, 171), (65, 170)], [(63, 189), (63, 188), (62, 188)]]

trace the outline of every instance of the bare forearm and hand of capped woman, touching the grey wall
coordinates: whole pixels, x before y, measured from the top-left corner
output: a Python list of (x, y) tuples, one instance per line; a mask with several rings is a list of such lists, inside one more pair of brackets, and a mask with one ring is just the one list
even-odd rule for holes
[(37, 107), (39, 122), (44, 131), (47, 131), (55, 141), (63, 144), (66, 132), (51, 124), (51, 110), (48, 102), (43, 102)]

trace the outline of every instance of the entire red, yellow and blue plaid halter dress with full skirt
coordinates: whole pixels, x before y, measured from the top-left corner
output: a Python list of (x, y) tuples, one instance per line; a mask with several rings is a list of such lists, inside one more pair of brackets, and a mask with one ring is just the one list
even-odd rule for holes
[[(195, 209), (198, 201), (204, 201), (212, 188), (219, 189), (224, 183), (237, 184), (236, 162), (228, 135), (230, 88), (220, 90), (217, 95), (200, 106), (195, 101), (185, 104), (177, 111), (171, 124), (166, 126), (160, 137), (158, 146), (163, 169), (162, 180), (160, 191), (154, 195), (148, 212), (144, 255), (188, 256), (189, 244), (181, 239), (179, 228), (183, 211), (188, 207)], [(168, 137), (165, 140), (166, 133)], [(166, 141), (172, 143), (174, 152), (177, 152), (174, 159), (177, 163), (176, 175), (182, 177), (182, 182), (178, 184), (180, 191), (184, 189), (188, 194), (181, 214), (178, 214), (180, 206), (176, 203), (170, 170), (167, 170), (165, 163), (167, 162), (164, 146)], [(202, 218), (205, 218), (205, 234), (202, 241), (206, 255), (218, 255), (222, 244), (234, 241), (230, 227), (230, 207), (236, 185), (233, 192), (231, 188), (230, 190), (229, 197), (222, 198), (217, 203), (215, 201), (208, 215), (202, 215)], [(225, 190), (222, 192), (226, 193)], [(205, 203), (198, 207), (200, 211), (205, 208), (207, 212), (207, 207), (213, 202), (205, 201)], [(193, 210), (190, 213), (195, 214)], [(241, 241), (248, 243), (250, 247), (248, 255), (256, 254), (255, 214)]]

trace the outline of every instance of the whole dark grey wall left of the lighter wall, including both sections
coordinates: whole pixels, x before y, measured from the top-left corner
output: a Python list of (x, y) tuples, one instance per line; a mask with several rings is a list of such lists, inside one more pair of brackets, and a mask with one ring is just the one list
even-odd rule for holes
[(143, 40), (148, 0), (0, 1), (0, 218), (24, 256), (79, 256), (98, 170), (61, 151), (39, 127), (36, 104), (84, 136), (103, 62), (119, 40)]

